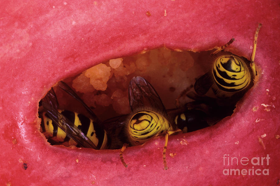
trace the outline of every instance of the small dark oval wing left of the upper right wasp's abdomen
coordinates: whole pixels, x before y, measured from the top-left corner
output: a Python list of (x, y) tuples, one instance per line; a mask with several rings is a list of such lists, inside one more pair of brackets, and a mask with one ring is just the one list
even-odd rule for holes
[(207, 72), (206, 74), (198, 78), (198, 80), (196, 80), (194, 84), (194, 90), (196, 93), (198, 93), (198, 95), (204, 95), (208, 92), (212, 84), (213, 80), (211, 77), (211, 73)]

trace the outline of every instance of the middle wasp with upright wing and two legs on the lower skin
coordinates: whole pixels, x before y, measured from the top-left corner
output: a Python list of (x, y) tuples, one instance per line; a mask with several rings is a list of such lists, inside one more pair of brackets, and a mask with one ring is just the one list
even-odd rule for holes
[[(124, 134), (130, 146), (141, 145), (148, 140), (165, 135), (166, 143), (163, 150), (164, 168), (166, 164), (166, 148), (168, 136), (178, 132), (176, 126), (170, 122), (161, 98), (152, 85), (142, 77), (133, 77), (128, 88), (129, 105), (132, 113), (128, 116), (124, 126)], [(124, 144), (120, 158), (125, 167), (123, 152), (127, 147)]]

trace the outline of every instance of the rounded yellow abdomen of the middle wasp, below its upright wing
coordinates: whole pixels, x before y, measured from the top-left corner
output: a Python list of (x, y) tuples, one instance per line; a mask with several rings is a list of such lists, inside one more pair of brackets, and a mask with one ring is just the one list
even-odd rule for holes
[(135, 144), (143, 144), (157, 134), (170, 130), (168, 120), (160, 113), (142, 110), (135, 113), (129, 120), (129, 137)]

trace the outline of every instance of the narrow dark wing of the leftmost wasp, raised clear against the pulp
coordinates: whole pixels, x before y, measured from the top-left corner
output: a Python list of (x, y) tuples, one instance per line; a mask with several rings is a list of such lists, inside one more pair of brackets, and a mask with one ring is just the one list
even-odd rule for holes
[(80, 102), (88, 111), (88, 113), (91, 115), (91, 119), (93, 119), (97, 123), (101, 123), (101, 121), (98, 119), (98, 117), (93, 113), (93, 111), (86, 105), (86, 103), (75, 93), (72, 88), (68, 86), (68, 84), (64, 83), (63, 81), (60, 81), (58, 83), (58, 86), (63, 89), (66, 93), (68, 93), (70, 96), (75, 98), (78, 102)]

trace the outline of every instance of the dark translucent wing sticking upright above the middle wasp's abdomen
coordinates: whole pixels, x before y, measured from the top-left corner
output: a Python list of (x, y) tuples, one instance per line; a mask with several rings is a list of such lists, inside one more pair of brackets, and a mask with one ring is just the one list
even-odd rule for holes
[(138, 108), (151, 107), (166, 113), (161, 98), (153, 86), (144, 78), (133, 77), (128, 87), (129, 105), (132, 111)]

